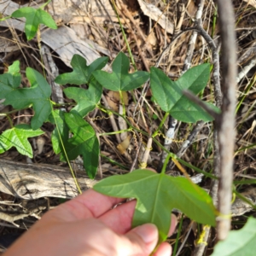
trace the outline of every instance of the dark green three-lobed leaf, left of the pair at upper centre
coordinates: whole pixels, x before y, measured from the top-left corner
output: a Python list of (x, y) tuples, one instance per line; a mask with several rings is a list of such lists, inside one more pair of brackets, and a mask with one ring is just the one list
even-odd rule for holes
[(108, 57), (101, 57), (93, 61), (90, 66), (86, 66), (86, 60), (81, 55), (73, 55), (71, 66), (72, 73), (62, 73), (57, 76), (55, 83), (57, 84), (87, 84), (90, 80), (91, 73), (95, 70), (102, 69), (108, 62)]

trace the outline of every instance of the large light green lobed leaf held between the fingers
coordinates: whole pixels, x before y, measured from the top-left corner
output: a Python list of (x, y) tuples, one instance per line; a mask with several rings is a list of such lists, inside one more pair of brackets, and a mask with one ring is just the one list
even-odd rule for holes
[(184, 177), (136, 170), (129, 174), (103, 179), (93, 187), (114, 197), (136, 198), (133, 227), (153, 223), (158, 227), (161, 241), (165, 241), (171, 212), (177, 208), (201, 224), (215, 225), (212, 199), (207, 193)]

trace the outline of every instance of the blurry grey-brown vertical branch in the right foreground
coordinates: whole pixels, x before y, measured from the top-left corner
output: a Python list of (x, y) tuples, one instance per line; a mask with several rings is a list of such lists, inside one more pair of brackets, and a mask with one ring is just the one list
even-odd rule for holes
[(231, 0), (218, 0), (222, 41), (222, 114), (218, 124), (220, 177), (218, 185), (217, 221), (218, 240), (224, 240), (230, 230), (230, 204), (232, 197), (233, 157), (236, 111), (236, 36), (235, 17)]

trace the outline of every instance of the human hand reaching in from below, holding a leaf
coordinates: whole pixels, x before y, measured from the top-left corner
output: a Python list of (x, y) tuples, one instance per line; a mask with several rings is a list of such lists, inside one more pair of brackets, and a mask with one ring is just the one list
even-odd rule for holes
[[(154, 224), (131, 230), (136, 201), (113, 208), (122, 199), (90, 189), (44, 214), (4, 256), (146, 256), (158, 241)], [(172, 215), (171, 235), (177, 220)], [(154, 255), (170, 256), (171, 246), (163, 242)]]

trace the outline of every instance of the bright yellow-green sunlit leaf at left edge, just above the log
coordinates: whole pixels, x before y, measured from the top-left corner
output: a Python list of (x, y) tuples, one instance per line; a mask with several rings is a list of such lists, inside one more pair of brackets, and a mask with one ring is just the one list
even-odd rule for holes
[(32, 147), (28, 142), (28, 137), (36, 137), (43, 134), (44, 131), (40, 129), (34, 131), (30, 125), (16, 125), (15, 127), (3, 131), (0, 136), (0, 154), (15, 147), (20, 154), (27, 155), (32, 158)]

